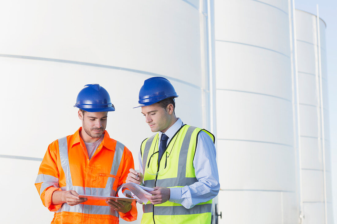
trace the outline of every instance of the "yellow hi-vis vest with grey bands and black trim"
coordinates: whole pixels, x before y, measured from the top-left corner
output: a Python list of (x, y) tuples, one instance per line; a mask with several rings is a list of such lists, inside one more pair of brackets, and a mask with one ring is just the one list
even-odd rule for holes
[[(159, 134), (145, 139), (141, 145), (144, 183), (146, 187), (184, 187), (198, 180), (195, 177), (193, 159), (198, 134), (206, 132), (214, 142), (214, 136), (205, 129), (183, 125), (167, 144), (158, 165)], [(162, 204), (143, 204), (142, 224), (205, 224), (211, 223), (212, 199), (186, 209), (181, 204), (166, 201)]]

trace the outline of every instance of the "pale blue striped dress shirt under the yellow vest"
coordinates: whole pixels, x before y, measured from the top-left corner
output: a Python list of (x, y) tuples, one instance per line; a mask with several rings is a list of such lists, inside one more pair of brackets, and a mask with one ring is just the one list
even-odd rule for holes
[[(183, 122), (179, 118), (170, 128), (165, 132), (170, 142), (174, 134), (183, 125)], [(159, 132), (159, 139), (162, 132)], [(158, 141), (159, 147), (160, 141)], [(142, 156), (139, 152), (139, 169), (143, 170)], [(206, 202), (216, 195), (220, 190), (218, 166), (216, 164), (216, 150), (213, 140), (205, 132), (200, 132), (198, 135), (198, 142), (195, 150), (195, 156), (193, 160), (193, 166), (195, 170), (195, 177), (198, 180), (194, 184), (184, 187), (170, 188), (169, 201), (179, 203), (186, 209), (192, 208), (194, 205)], [(165, 186), (159, 186), (165, 187)]]

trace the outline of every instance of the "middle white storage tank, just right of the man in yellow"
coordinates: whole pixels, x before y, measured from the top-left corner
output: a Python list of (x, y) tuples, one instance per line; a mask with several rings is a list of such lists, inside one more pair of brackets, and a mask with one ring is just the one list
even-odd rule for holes
[(214, 4), (219, 223), (297, 223), (288, 1)]

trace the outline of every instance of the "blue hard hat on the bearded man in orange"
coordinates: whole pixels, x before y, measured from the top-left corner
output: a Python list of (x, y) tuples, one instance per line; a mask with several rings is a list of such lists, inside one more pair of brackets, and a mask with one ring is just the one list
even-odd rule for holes
[(99, 84), (87, 84), (77, 95), (74, 107), (87, 112), (115, 111), (110, 95)]

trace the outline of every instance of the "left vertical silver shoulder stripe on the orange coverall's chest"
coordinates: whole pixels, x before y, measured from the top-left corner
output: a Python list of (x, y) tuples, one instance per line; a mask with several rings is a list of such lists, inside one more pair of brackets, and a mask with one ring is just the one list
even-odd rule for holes
[(60, 138), (59, 140), (59, 152), (60, 152), (60, 160), (61, 166), (65, 175), (66, 180), (66, 190), (71, 190), (72, 181), (70, 174), (70, 166), (68, 159), (68, 145), (67, 145), (67, 137)]

